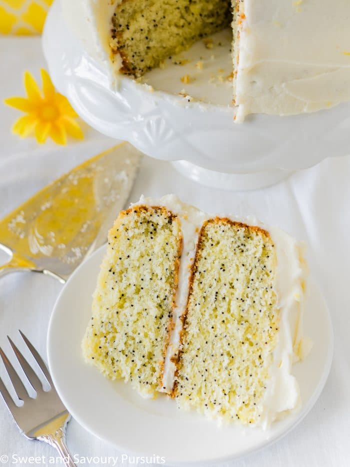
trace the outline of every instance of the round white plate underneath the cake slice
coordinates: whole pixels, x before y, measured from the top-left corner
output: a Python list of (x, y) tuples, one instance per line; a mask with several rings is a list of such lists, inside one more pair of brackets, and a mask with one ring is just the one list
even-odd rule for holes
[(121, 452), (164, 456), (167, 464), (223, 462), (260, 449), (295, 427), (316, 402), (328, 376), (333, 335), (326, 304), (317, 286), (308, 288), (305, 333), (310, 355), (293, 367), (301, 391), (299, 413), (274, 422), (270, 429), (218, 427), (174, 400), (160, 395), (143, 399), (128, 384), (111, 382), (83, 361), (80, 342), (90, 317), (91, 294), (103, 246), (82, 263), (60, 293), (47, 337), (48, 364), (55, 387), (72, 416)]

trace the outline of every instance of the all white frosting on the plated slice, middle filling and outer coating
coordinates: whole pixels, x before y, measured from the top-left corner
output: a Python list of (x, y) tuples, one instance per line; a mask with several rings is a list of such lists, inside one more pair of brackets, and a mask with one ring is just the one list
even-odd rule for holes
[[(141, 197), (133, 204), (163, 206), (178, 216), (182, 230), (183, 250), (180, 260), (176, 306), (173, 312), (174, 329), (167, 348), (162, 391), (170, 393), (174, 384), (175, 365), (171, 361), (177, 355), (181, 316), (185, 311), (189, 287), (190, 268), (193, 264), (199, 230), (203, 222), (215, 217), (188, 204), (175, 195), (160, 199)], [(309, 342), (302, 335), (302, 315), (307, 266), (303, 259), (303, 246), (276, 227), (266, 226), (254, 218), (226, 216), (231, 220), (257, 225), (269, 232), (276, 248), (277, 266), (275, 291), (280, 310), (278, 341), (273, 352), (266, 395), (263, 400), (263, 416), (259, 424), (267, 427), (273, 420), (297, 410), (300, 406), (299, 388), (291, 374), (292, 363), (302, 359), (309, 350)]]

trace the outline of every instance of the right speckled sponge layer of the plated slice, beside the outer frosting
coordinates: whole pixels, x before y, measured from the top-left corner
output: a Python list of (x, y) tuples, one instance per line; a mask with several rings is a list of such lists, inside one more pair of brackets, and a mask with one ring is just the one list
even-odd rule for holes
[(224, 218), (200, 231), (175, 378), (179, 406), (257, 423), (276, 345), (269, 234)]

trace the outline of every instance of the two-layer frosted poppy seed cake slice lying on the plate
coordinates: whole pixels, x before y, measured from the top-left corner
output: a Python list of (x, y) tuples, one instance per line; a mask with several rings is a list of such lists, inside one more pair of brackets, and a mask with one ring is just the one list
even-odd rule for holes
[(267, 426), (300, 404), (305, 278), (277, 228), (142, 197), (109, 232), (83, 354), (141, 395)]

